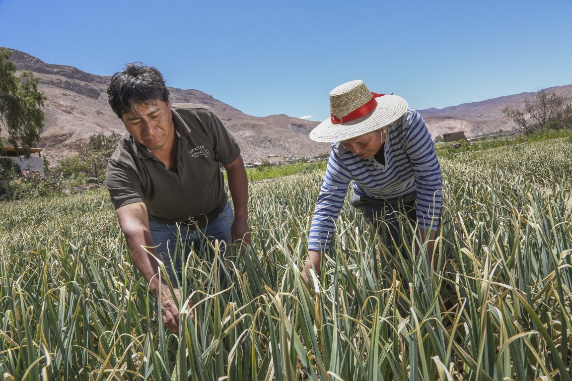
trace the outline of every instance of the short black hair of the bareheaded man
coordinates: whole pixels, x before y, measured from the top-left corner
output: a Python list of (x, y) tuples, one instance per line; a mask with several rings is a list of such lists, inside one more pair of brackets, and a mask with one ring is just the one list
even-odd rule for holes
[(130, 62), (125, 69), (113, 74), (108, 87), (108, 101), (114, 113), (121, 115), (134, 105), (145, 105), (157, 100), (167, 102), (169, 90), (161, 73), (141, 62)]

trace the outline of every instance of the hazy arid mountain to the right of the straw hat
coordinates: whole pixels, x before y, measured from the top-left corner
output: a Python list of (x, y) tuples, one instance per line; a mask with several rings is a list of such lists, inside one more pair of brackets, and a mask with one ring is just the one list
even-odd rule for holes
[[(571, 94), (572, 85), (549, 87), (543, 91), (555, 94)], [(492, 133), (498, 130), (510, 130), (513, 127), (503, 119), (502, 110), (509, 105), (519, 109), (527, 99), (536, 93), (521, 93), (486, 101), (463, 103), (444, 109), (419, 110), (433, 135), (465, 131), (467, 137)]]

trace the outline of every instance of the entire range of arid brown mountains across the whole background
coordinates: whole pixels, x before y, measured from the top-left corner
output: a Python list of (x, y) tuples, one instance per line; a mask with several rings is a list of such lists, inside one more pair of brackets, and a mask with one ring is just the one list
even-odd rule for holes
[[(19, 70), (30, 70), (40, 79), (46, 94), (45, 129), (40, 147), (48, 157), (76, 153), (91, 135), (124, 132), (124, 127), (108, 106), (105, 90), (110, 77), (85, 73), (76, 67), (51, 65), (29, 54), (13, 50), (11, 58)], [(198, 90), (169, 87), (173, 103), (201, 103), (209, 106), (234, 135), (248, 161), (261, 161), (268, 155), (285, 158), (327, 153), (328, 143), (312, 142), (309, 131), (318, 122), (288, 115), (253, 117)], [(552, 87), (557, 94), (569, 93), (572, 85)], [(502, 118), (506, 105), (518, 107), (535, 93), (522, 93), (464, 103), (444, 109), (419, 110), (433, 135), (464, 131), (467, 137), (492, 133), (511, 126)]]

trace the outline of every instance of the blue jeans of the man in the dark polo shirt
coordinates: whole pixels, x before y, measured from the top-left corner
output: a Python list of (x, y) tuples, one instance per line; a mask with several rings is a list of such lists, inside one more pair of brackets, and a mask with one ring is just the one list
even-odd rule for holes
[(196, 230), (193, 225), (185, 223), (158, 223), (149, 221), (149, 229), (153, 243), (157, 246), (158, 258), (165, 264), (165, 268), (176, 284), (177, 278), (181, 279), (182, 263), (190, 254), (190, 247), (194, 246), (197, 252), (208, 253), (208, 259), (212, 262), (215, 258), (215, 250), (209, 244), (214, 240), (222, 241), (220, 255), (223, 256), (225, 248), (231, 244), (231, 227), (235, 220), (231, 204), (227, 201), (220, 216), (209, 221), (208, 224)]

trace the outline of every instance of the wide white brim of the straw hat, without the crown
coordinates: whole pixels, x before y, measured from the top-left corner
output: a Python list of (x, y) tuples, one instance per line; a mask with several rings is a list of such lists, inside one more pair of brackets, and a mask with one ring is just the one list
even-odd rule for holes
[(334, 125), (326, 119), (310, 132), (310, 139), (315, 142), (333, 143), (352, 139), (379, 130), (396, 121), (407, 111), (407, 101), (399, 95), (384, 95), (376, 98), (378, 106), (374, 111), (359, 119)]

